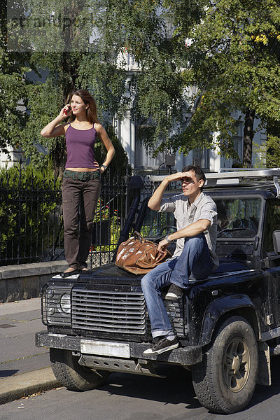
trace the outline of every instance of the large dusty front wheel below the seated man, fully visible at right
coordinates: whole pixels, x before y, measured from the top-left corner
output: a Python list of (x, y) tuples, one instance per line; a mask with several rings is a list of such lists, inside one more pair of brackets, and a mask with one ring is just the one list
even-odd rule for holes
[(248, 405), (258, 377), (258, 346), (246, 319), (231, 316), (223, 322), (192, 377), (197, 398), (209, 411), (230, 414)]

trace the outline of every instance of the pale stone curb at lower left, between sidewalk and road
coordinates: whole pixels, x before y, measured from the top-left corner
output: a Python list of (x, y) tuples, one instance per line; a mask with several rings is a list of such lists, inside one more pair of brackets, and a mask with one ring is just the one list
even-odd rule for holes
[(6, 404), (27, 397), (36, 392), (48, 391), (60, 386), (51, 367), (22, 373), (18, 376), (0, 380), (0, 404)]

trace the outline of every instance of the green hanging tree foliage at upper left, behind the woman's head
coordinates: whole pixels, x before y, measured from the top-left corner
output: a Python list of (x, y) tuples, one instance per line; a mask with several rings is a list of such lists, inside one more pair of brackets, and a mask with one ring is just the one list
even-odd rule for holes
[[(28, 59), (34, 69), (25, 83), (23, 105), (27, 106), (27, 113), (24, 113), (25, 127), (18, 143), (34, 165), (47, 165), (51, 158), (56, 172), (64, 167), (65, 141), (63, 138), (43, 139), (40, 132), (68, 102), (73, 89), (90, 89), (102, 120), (104, 117), (112, 119), (122, 109), (120, 99), (125, 90), (125, 72), (116, 68), (116, 52), (108, 53), (109, 49), (103, 48), (98, 36), (90, 42), (96, 28), (94, 14), (90, 13), (94, 3), (102, 7), (101, 2), (90, 0), (15, 3), (18, 18), (14, 18), (13, 30), (10, 29), (13, 49), (18, 55), (22, 49), (22, 57)], [(21, 97), (22, 92), (18, 90), (18, 97), (13, 96), (14, 108)], [(37, 143), (48, 152), (45, 157), (34, 147)]]

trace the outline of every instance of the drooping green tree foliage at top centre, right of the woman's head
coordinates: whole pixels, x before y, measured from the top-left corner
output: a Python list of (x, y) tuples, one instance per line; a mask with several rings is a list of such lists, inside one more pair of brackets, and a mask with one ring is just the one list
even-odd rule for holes
[[(100, 13), (99, 31), (108, 50), (118, 51), (118, 66), (125, 68), (127, 54), (138, 65), (128, 72), (126, 98), (132, 118), (137, 118), (138, 139), (157, 155), (170, 151), (172, 134), (183, 132), (186, 111), (185, 82), (181, 74), (187, 56), (184, 43), (172, 38), (167, 15), (167, 1), (130, 0), (104, 1), (105, 13)], [(190, 2), (191, 4), (191, 2)], [(185, 25), (198, 18), (197, 8), (190, 7)], [(123, 57), (121, 62), (120, 57)]]

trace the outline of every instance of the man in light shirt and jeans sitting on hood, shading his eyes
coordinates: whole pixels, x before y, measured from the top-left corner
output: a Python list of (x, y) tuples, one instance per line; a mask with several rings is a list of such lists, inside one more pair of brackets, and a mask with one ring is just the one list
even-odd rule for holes
[[(179, 180), (182, 181), (183, 193), (162, 199), (168, 184)], [(212, 269), (218, 267), (215, 254), (217, 209), (211, 197), (202, 193), (205, 181), (200, 167), (184, 167), (182, 172), (168, 175), (148, 202), (150, 209), (172, 211), (177, 231), (167, 235), (158, 244), (159, 251), (162, 251), (176, 240), (173, 257), (162, 262), (142, 279), (153, 335), (153, 346), (145, 350), (144, 354), (160, 354), (179, 346), (162, 300), (162, 288), (170, 285), (165, 299), (179, 300), (188, 287), (190, 276), (195, 280), (206, 279)]]

